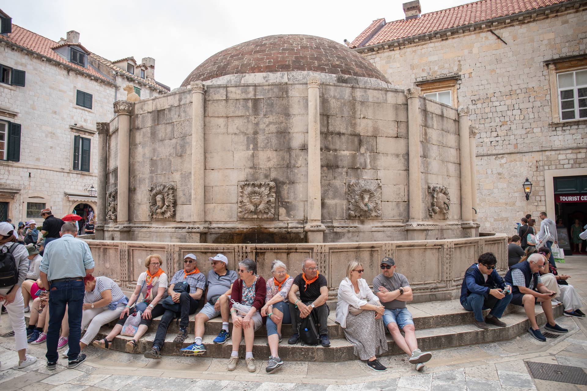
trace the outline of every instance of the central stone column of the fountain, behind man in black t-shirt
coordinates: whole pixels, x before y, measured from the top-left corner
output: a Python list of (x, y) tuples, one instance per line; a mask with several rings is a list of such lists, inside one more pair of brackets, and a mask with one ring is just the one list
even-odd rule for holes
[(322, 243), (326, 227), (322, 224), (320, 181), (320, 80), (308, 79), (308, 232), (309, 243)]

